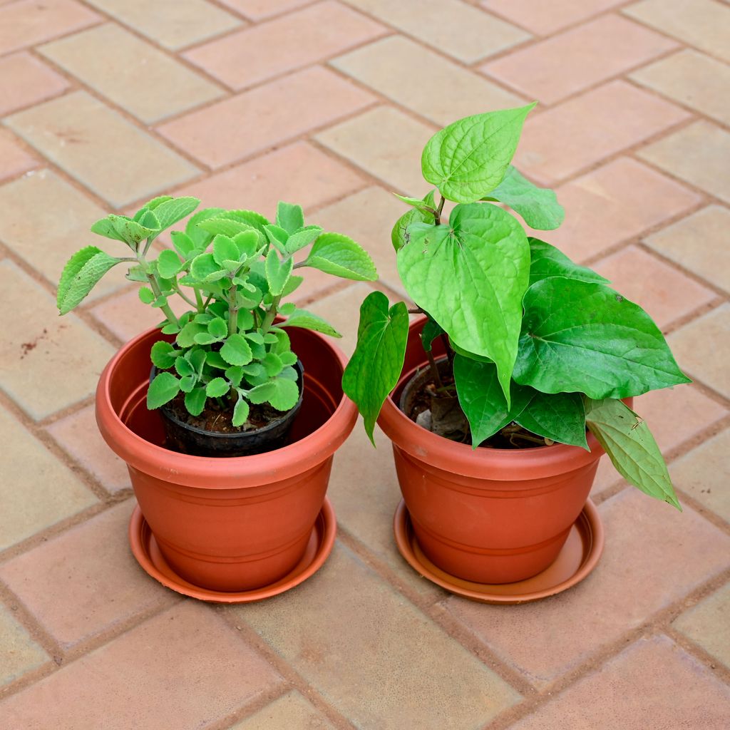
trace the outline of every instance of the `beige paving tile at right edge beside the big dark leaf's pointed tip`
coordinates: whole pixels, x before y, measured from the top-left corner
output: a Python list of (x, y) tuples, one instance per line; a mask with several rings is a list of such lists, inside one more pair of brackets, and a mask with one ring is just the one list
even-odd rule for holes
[(691, 377), (730, 398), (730, 369), (718, 353), (730, 345), (730, 304), (680, 327), (667, 339), (680, 367)]

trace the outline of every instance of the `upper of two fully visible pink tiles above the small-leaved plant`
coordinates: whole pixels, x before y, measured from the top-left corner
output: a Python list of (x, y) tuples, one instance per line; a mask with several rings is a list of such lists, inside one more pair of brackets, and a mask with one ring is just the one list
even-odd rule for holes
[[(199, 46), (185, 58), (240, 90), (382, 36), (374, 20), (325, 0)], [(277, 53), (268, 53), (275, 47)]]

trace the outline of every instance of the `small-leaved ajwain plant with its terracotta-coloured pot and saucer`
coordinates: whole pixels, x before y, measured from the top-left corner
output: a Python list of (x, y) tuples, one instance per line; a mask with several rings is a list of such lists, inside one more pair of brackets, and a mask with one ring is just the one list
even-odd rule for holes
[(302, 282), (295, 270), (377, 274), (356, 242), (305, 225), (301, 207), (286, 203), (274, 223), (249, 210), (202, 210), (157, 253), (155, 239), (198, 205), (161, 196), (132, 218), (94, 223), (128, 254), (74, 254), (58, 310), (80, 304), (112, 266), (131, 265), (140, 299), (164, 319), (104, 369), (96, 418), (141, 508), (134, 553), (178, 591), (248, 600), (299, 583), (326, 558), (332, 455), (357, 415), (340, 384), (345, 358), (323, 337), (339, 333), (285, 302)]

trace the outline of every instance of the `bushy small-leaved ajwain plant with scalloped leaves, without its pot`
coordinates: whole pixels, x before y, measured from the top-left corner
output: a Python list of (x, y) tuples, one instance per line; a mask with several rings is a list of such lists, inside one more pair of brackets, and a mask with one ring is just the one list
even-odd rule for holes
[[(274, 223), (250, 210), (201, 210), (184, 232), (172, 231), (172, 249), (153, 249), (161, 232), (199, 203), (161, 196), (134, 218), (108, 215), (96, 221), (91, 231), (122, 242), (130, 255), (115, 257), (95, 246), (75, 253), (58, 284), (58, 310), (63, 315), (77, 307), (112, 266), (131, 264), (128, 279), (142, 284), (139, 298), (160, 310), (161, 334), (172, 339), (152, 347), (158, 372), (147, 407), (161, 407), (182, 392), (191, 415), (200, 415), (213, 399), (232, 411), (233, 426), (242, 427), (250, 404), (287, 411), (299, 399), (297, 357), (287, 328), (341, 337), (322, 318), (283, 302), (303, 281), (294, 270), (311, 266), (364, 281), (375, 280), (377, 273), (352, 239), (306, 226), (301, 207), (282, 202)], [(180, 317), (170, 306), (173, 296), (188, 307)], [(277, 321), (277, 315), (286, 320)]]

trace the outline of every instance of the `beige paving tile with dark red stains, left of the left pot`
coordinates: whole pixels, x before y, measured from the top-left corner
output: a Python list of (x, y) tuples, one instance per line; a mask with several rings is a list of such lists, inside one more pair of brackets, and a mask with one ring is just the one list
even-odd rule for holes
[(59, 318), (50, 294), (10, 261), (0, 262), (0, 283), (4, 311), (23, 312), (5, 322), (0, 387), (35, 419), (90, 396), (112, 347), (75, 315)]

